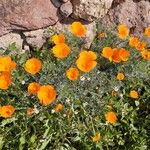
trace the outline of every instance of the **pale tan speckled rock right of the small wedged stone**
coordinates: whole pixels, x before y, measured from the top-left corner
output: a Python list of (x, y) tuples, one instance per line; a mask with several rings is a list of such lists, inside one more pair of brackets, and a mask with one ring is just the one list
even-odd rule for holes
[(72, 0), (73, 17), (94, 21), (106, 15), (113, 0)]

